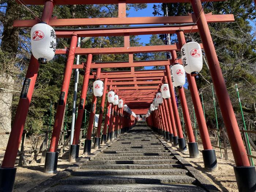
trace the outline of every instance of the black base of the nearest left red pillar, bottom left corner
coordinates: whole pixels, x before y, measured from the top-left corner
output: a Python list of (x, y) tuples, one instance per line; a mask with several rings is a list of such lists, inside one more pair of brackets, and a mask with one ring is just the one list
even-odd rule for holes
[(0, 191), (12, 192), (16, 176), (16, 167), (1, 168), (0, 167)]

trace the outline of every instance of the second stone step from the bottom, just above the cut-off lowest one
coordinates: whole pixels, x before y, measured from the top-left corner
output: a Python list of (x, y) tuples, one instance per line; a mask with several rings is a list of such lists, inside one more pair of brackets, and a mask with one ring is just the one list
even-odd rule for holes
[(116, 176), (71, 176), (58, 181), (59, 184), (154, 184), (154, 183), (184, 183), (191, 184), (195, 178), (183, 174), (172, 175), (116, 175)]

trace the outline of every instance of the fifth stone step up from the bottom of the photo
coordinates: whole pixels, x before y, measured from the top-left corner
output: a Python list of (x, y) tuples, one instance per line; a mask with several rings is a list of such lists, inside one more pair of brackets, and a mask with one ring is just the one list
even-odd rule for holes
[(108, 161), (86, 161), (84, 165), (115, 165), (115, 164), (172, 164), (177, 163), (175, 159), (145, 159), (145, 160), (108, 160)]

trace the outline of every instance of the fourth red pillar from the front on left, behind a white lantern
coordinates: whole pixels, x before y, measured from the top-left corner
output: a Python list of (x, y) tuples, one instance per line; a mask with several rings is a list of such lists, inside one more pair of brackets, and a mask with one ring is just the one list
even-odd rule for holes
[[(101, 68), (97, 69), (97, 74), (96, 78), (99, 78), (99, 75), (101, 74)], [(90, 118), (89, 118), (89, 123), (88, 123), (88, 128), (87, 128), (87, 135), (86, 135), (86, 140), (85, 140), (85, 145), (84, 145), (84, 155), (91, 154), (91, 134), (93, 132), (93, 123), (94, 123), (94, 117), (95, 117), (95, 111), (96, 111), (96, 103), (97, 103), (97, 97), (93, 95), (93, 99), (91, 102), (91, 112), (90, 112)]]

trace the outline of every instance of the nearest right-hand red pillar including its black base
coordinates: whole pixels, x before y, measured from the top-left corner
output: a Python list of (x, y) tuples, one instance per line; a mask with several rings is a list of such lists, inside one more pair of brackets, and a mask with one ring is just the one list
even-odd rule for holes
[(218, 57), (212, 42), (210, 30), (204, 15), (204, 10), (200, 0), (191, 0), (191, 5), (197, 19), (197, 27), (202, 39), (204, 52), (210, 68), (212, 82), (216, 91), (221, 109), (223, 121), (229, 136), (230, 146), (236, 162), (234, 171), (236, 174), (237, 185), (240, 191), (252, 191), (256, 186), (256, 170), (255, 167), (250, 166), (244, 143), (242, 141), (241, 133), (236, 121), (236, 116), (227, 93), (225, 80), (222, 75), (221, 67), (219, 65)]

